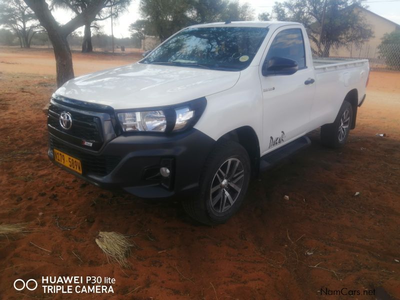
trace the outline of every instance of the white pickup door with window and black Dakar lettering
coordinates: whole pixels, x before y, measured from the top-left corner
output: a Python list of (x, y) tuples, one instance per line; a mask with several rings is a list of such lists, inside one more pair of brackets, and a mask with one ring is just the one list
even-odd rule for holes
[[(307, 43), (308, 46), (308, 43)], [(260, 81), (263, 99), (263, 143), (261, 154), (295, 139), (307, 132), (310, 110), (315, 92), (314, 70), (306, 55), (301, 28), (278, 28), (268, 42), (263, 63), (273, 57), (284, 57), (297, 62), (292, 74), (263, 76)]]

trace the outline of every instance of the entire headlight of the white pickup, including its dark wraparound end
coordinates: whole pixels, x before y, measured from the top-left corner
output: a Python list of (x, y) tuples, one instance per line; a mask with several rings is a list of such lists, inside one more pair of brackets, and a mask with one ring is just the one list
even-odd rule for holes
[(123, 132), (175, 132), (192, 127), (205, 109), (205, 97), (154, 110), (117, 112)]

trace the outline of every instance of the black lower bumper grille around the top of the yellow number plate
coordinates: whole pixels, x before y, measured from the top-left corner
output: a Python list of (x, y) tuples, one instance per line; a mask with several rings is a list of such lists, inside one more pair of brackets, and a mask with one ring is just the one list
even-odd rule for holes
[(77, 159), (79, 159), (82, 163), (83, 174), (95, 174), (100, 176), (105, 176), (109, 174), (118, 162), (121, 160), (119, 156), (113, 155), (93, 155), (89, 153), (82, 152), (80, 150), (76, 150), (62, 142), (57, 141), (55, 138), (50, 136), (50, 149), (56, 148), (66, 154), (69, 154)]

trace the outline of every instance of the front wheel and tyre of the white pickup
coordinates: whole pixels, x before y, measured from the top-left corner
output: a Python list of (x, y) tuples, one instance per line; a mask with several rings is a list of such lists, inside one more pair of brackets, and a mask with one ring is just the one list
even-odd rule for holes
[(243, 202), (250, 173), (250, 159), (240, 144), (218, 142), (204, 164), (199, 194), (182, 201), (184, 210), (206, 225), (226, 222)]

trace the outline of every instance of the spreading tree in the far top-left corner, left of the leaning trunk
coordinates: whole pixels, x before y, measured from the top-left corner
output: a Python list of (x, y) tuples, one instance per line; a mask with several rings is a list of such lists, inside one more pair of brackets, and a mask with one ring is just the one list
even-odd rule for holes
[(22, 0), (2, 0), (0, 24), (15, 33), (21, 48), (29, 48), (33, 35), (42, 31), (33, 11)]

